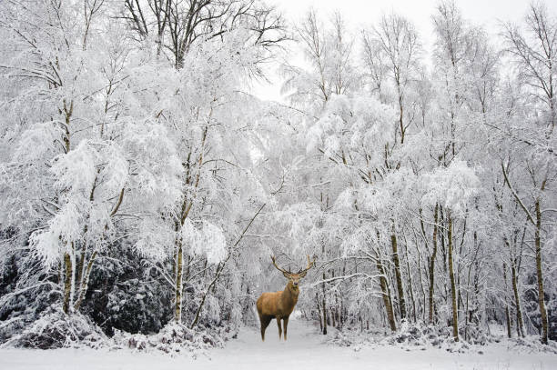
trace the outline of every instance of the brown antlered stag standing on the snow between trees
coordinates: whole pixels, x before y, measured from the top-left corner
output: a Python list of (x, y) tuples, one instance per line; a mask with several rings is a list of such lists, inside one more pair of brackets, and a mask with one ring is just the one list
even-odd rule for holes
[(289, 327), (289, 316), (294, 311), (294, 306), (298, 303), (299, 295), (299, 280), (308, 274), (308, 270), (315, 265), (315, 258), (313, 262), (309, 260), (308, 266), (305, 269), (300, 269), (298, 273), (292, 273), (277, 265), (274, 255), (271, 255), (271, 261), (275, 267), (289, 279), (284, 290), (279, 292), (265, 292), (258, 298), (258, 314), (259, 322), (261, 323), (261, 340), (265, 342), (265, 330), (272, 319), (277, 319), (279, 325), (279, 340), (282, 336), (282, 329), (280, 328), (280, 320), (284, 325), (284, 340), (287, 340), (287, 330)]

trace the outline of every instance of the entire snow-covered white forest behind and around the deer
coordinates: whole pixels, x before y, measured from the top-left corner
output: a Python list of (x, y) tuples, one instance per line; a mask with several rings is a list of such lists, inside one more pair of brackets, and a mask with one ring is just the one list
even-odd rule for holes
[(221, 346), (273, 255), (329, 344), (557, 353), (557, 14), (378, 19), (0, 2), (0, 344)]

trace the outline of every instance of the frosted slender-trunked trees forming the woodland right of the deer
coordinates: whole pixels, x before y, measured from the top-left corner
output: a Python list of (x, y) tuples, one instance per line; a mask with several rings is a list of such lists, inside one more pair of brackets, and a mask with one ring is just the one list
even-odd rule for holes
[(308, 113), (319, 208), (307, 305), (324, 334), (406, 321), (484, 342), (494, 322), (547, 343), (557, 20), (532, 3), (493, 38), (453, 2), (431, 19), (431, 65), (397, 14), (355, 33), (339, 14), (310, 12), (296, 28), (310, 68), (285, 65), (285, 91)]

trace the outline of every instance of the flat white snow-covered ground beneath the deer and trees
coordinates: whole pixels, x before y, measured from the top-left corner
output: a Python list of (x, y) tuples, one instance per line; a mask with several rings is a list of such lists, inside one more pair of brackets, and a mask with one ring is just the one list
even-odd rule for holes
[(267, 329), (261, 342), (257, 330), (243, 328), (238, 339), (215, 349), (211, 358), (196, 360), (179, 355), (137, 353), (94, 349), (24, 350), (0, 349), (0, 369), (475, 369), (551, 370), (557, 369), (557, 355), (509, 351), (505, 345), (482, 347), (483, 354), (448, 353), (437, 348), (406, 350), (393, 346), (339, 347), (322, 343), (314, 327), (302, 320), (290, 320), (289, 340), (279, 342), (277, 325)]

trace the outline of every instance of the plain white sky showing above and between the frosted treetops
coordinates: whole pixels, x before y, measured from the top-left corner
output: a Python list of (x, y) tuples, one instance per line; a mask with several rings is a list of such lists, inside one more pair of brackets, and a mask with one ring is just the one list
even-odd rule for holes
[[(269, 5), (277, 5), (279, 11), (290, 22), (296, 22), (310, 7), (322, 17), (335, 10), (345, 16), (349, 26), (359, 30), (365, 25), (373, 25), (383, 13), (394, 11), (410, 19), (420, 33), (421, 43), (426, 52), (431, 50), (433, 25), (431, 15), (437, 0), (267, 0)], [(457, 0), (462, 15), (474, 25), (483, 25), (493, 36), (498, 32), (500, 21), (521, 21), (526, 13), (529, 0)], [(557, 15), (557, 1), (545, 1), (553, 15)], [(299, 55), (292, 55), (299, 58)], [(280, 78), (270, 71), (270, 84), (263, 82), (253, 86), (252, 93), (262, 99), (280, 100)]]

